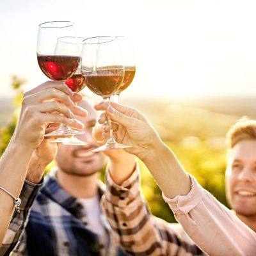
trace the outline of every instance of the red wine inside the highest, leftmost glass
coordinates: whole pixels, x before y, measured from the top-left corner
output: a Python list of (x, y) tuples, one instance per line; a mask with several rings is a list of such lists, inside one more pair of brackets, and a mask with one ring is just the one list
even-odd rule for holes
[(37, 61), (45, 76), (54, 81), (65, 81), (76, 72), (80, 57), (38, 55)]

